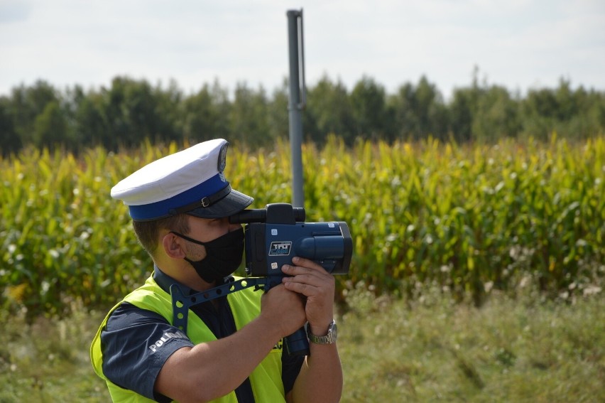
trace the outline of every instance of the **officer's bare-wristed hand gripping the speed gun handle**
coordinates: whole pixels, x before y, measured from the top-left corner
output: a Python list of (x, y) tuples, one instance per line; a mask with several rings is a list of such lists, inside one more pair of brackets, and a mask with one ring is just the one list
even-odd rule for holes
[(280, 338), (298, 331), (307, 321), (305, 303), (300, 294), (288, 291), (285, 286), (273, 286), (261, 299), (261, 316), (271, 326), (280, 329)]

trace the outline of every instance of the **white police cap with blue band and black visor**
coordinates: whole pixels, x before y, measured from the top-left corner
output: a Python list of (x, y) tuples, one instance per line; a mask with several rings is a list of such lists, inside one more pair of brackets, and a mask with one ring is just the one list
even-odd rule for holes
[(225, 179), (227, 146), (224, 139), (204, 141), (153, 161), (111, 188), (111, 197), (124, 201), (139, 221), (179, 213), (203, 218), (239, 213), (254, 199), (231, 189)]

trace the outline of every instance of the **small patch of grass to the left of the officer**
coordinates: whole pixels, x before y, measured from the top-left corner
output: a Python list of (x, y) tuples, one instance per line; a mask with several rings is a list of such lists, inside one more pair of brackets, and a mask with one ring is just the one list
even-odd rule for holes
[(104, 314), (75, 308), (69, 318), (0, 313), (0, 403), (111, 402), (88, 350)]

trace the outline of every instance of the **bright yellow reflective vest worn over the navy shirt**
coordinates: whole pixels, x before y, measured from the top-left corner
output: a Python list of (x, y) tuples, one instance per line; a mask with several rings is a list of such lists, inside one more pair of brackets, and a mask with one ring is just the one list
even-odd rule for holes
[[(237, 330), (246, 326), (246, 323), (252, 321), (261, 312), (261, 294), (261, 292), (255, 292), (253, 289), (243, 289), (227, 295), (227, 301), (229, 302), (231, 313), (233, 313)], [(114, 308), (111, 308), (90, 346), (90, 360), (92, 361), (94, 372), (97, 372), (97, 375), (107, 382), (109, 394), (111, 394), (111, 399), (114, 402), (153, 402), (153, 400), (147, 399), (141, 394), (115, 385), (103, 374), (101, 332), (107, 325), (107, 319), (111, 315), (111, 312), (118, 308), (122, 302), (129, 302), (138, 306), (138, 308), (159, 313), (166, 321), (172, 323), (172, 299), (170, 298), (170, 294), (158, 286), (153, 276), (150, 276), (143, 286), (132, 291), (120, 303), (117, 303)], [(187, 318), (187, 336), (194, 344), (217, 340), (204, 321), (191, 311), (189, 311)], [(254, 340), (251, 340), (251, 343), (254, 343)], [(285, 402), (283, 382), (281, 380), (281, 353), (281, 348), (271, 350), (271, 353), (252, 371), (249, 378), (256, 402)], [(219, 399), (213, 400), (213, 402), (236, 403), (237, 398), (235, 392), (230, 392)]]

